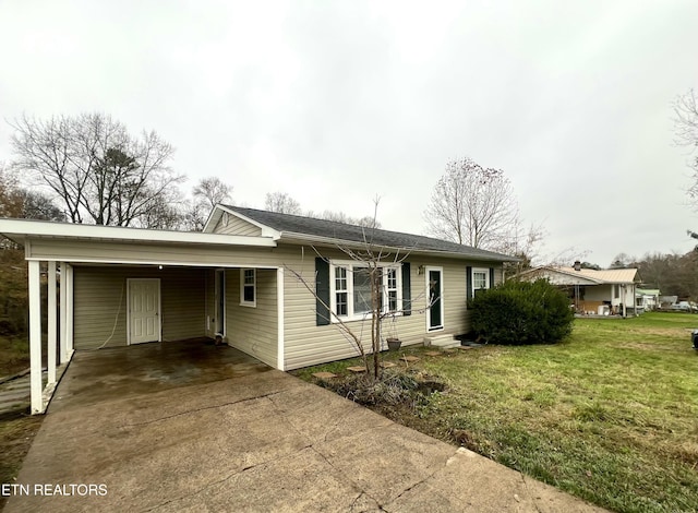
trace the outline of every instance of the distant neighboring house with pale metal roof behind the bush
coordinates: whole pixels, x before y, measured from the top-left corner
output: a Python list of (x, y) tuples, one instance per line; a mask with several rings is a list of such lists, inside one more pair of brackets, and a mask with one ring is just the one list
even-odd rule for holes
[(518, 276), (526, 281), (545, 278), (564, 288), (579, 313), (636, 313), (635, 295), (640, 282), (637, 269), (595, 271), (581, 269), (579, 262), (575, 262), (573, 267), (541, 266)]

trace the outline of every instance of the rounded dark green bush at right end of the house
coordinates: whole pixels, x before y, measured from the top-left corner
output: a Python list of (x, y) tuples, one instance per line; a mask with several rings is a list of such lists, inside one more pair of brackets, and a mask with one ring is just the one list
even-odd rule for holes
[(552, 344), (571, 332), (567, 296), (545, 279), (505, 282), (470, 302), (476, 335), (492, 344)]

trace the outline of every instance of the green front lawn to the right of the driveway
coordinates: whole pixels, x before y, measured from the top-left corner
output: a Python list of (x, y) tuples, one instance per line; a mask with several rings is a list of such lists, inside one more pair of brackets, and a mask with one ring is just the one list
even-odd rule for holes
[[(557, 345), (423, 348), (409, 372), (447, 385), (406, 415), (467, 448), (614, 511), (698, 511), (698, 315), (578, 319)], [(396, 359), (397, 354), (385, 354)], [(357, 360), (303, 369), (344, 369)], [(405, 367), (405, 366), (402, 366)], [(341, 375), (335, 380), (341, 380)]]

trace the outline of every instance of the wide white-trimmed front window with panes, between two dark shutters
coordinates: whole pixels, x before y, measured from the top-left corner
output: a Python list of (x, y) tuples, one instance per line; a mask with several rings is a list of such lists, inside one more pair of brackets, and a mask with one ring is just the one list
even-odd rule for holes
[[(378, 267), (381, 275), (381, 311), (400, 314), (402, 308), (402, 276), (398, 265)], [(329, 308), (342, 321), (365, 319), (371, 314), (371, 273), (366, 265), (356, 262), (330, 262)], [(337, 320), (333, 318), (333, 322)]]

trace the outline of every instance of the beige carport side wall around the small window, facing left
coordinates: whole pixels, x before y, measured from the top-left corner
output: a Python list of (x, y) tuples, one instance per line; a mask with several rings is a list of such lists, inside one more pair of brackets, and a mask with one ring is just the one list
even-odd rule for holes
[(240, 270), (226, 270), (226, 333), (228, 344), (277, 367), (278, 310), (276, 270), (256, 271), (256, 306), (240, 305)]

